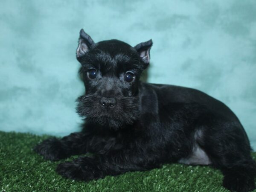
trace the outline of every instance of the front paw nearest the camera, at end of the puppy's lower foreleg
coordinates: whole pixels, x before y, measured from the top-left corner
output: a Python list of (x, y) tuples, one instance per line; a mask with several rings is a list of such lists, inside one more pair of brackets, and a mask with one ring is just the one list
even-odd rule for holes
[(104, 177), (102, 170), (95, 163), (92, 158), (79, 157), (73, 162), (59, 164), (56, 171), (61, 176), (74, 180), (88, 181)]

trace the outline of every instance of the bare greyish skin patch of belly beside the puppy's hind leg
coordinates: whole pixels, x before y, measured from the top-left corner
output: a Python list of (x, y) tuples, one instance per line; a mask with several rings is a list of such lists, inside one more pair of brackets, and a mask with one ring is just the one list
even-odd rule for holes
[(178, 163), (187, 165), (209, 165), (212, 162), (204, 150), (195, 144), (192, 153), (186, 158), (181, 158)]

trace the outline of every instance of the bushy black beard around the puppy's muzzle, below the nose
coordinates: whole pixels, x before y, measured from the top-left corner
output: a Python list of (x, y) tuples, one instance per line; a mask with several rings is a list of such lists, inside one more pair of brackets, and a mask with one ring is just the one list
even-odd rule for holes
[(103, 127), (118, 129), (124, 125), (131, 125), (139, 117), (138, 97), (117, 98), (114, 108), (102, 108), (99, 96), (80, 96), (76, 101), (79, 116), (87, 122), (96, 123)]

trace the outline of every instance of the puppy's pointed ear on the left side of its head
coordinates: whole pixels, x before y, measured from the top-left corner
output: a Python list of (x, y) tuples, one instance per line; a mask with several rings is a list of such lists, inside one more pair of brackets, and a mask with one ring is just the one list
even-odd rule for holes
[(85, 33), (84, 29), (81, 29), (78, 47), (76, 49), (76, 58), (78, 59), (81, 56), (83, 56), (86, 52), (88, 52), (93, 44), (94, 44), (94, 41), (90, 37), (90, 35)]

